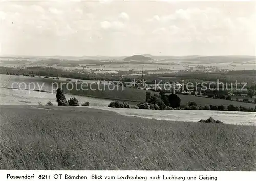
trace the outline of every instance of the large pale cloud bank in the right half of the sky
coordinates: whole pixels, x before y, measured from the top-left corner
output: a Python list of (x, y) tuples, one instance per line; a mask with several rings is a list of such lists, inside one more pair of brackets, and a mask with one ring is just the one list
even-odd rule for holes
[[(172, 41), (181, 38), (189, 42), (218, 44), (252, 34), (252, 30), (255, 30), (252, 27), (253, 17), (254, 15), (251, 18), (235, 18), (217, 8), (188, 8), (178, 9), (168, 15), (154, 15), (147, 22), (158, 27), (153, 34), (171, 36)], [(186, 36), (189, 38), (182, 38)], [(249, 38), (246, 39), (250, 41)]]

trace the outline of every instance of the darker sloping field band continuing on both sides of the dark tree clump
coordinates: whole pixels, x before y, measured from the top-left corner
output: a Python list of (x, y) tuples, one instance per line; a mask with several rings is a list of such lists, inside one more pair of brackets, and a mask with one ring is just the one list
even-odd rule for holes
[[(62, 88), (66, 94), (72, 95), (80, 95), (80, 96), (88, 96), (88, 97), (95, 97), (95, 98), (105, 98), (111, 100), (120, 100), (120, 101), (130, 101), (130, 102), (144, 102), (146, 97), (145, 90), (139, 90), (134, 88), (124, 88), (102, 84), (90, 84), (91, 81), (88, 81), (88, 86), (82, 87), (81, 84), (76, 85), (75, 82), (65, 81), (66, 78), (60, 78), (62, 80), (56, 79), (48, 79), (48, 78), (39, 78), (39, 77), (26, 77), (26, 76), (10, 76), (10, 75), (0, 75), (0, 86), (1, 87), (12, 87), (12, 83), (17, 82), (18, 84), (14, 84), (14, 88), (19, 88), (18, 85), (21, 85), (21, 88), (24, 88), (25, 85), (28, 88), (28, 84), (34, 82), (35, 89), (41, 89), (46, 92), (55, 92), (54, 90), (57, 87), (61, 87), (61, 82), (65, 82), (66, 84), (62, 85)], [(20, 84), (24, 82), (24, 84)], [(87, 81), (85, 81), (87, 82)], [(94, 81), (95, 82), (95, 81)], [(67, 85), (69, 83), (69, 85)], [(44, 86), (42, 86), (44, 85)], [(72, 89), (72, 86), (74, 87)], [(90, 88), (91, 86), (91, 88)], [(34, 85), (31, 84), (31, 88)], [(105, 87), (105, 88), (104, 88)], [(82, 88), (84, 90), (82, 90)], [(87, 90), (88, 89), (88, 90)], [(158, 94), (158, 92), (151, 92), (152, 94)], [(186, 105), (189, 101), (194, 101), (197, 103), (198, 106), (205, 106), (205, 105), (223, 105), (228, 106), (233, 104), (234, 106), (242, 106), (242, 107), (250, 107), (255, 108), (256, 104), (252, 103), (244, 103), (244, 102), (237, 102), (237, 101), (228, 101), (223, 99), (212, 99), (212, 98), (205, 98), (205, 97), (198, 97), (198, 96), (191, 96), (191, 95), (178, 95), (181, 99), (181, 105)]]

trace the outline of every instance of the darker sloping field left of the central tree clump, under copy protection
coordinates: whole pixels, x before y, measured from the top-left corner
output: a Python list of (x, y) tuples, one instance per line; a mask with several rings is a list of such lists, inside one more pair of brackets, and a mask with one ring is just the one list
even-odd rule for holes
[[(36, 90), (44, 90), (46, 92), (55, 92), (58, 87), (62, 87), (63, 91), (67, 94), (115, 99), (115, 100), (125, 100), (125, 101), (144, 101), (145, 91), (133, 89), (133, 88), (123, 88), (121, 86), (113, 85), (103, 85), (103, 84), (75, 84), (75, 82), (56, 80), (49, 78), (39, 78), (39, 77), (26, 77), (26, 76), (10, 76), (10, 75), (0, 75), (2, 87), (8, 88), (29, 88)], [(24, 82), (24, 83), (23, 83)], [(86, 81), (84, 81), (86, 82)], [(95, 81), (94, 81), (95, 82)], [(15, 84), (13, 84), (15, 83)], [(34, 83), (34, 84), (33, 84)], [(61, 86), (61, 83), (62, 86)], [(64, 84), (65, 83), (65, 84)], [(35, 88), (34, 88), (35, 87)], [(73, 88), (72, 88), (73, 87)]]

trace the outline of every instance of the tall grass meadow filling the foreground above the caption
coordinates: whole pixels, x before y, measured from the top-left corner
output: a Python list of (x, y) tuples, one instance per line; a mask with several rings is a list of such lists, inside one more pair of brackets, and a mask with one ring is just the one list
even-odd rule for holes
[(0, 169), (256, 170), (255, 127), (0, 106)]

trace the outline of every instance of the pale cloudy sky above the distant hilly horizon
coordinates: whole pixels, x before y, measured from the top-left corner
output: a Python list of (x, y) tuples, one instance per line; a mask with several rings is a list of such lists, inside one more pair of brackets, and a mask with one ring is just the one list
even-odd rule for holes
[(255, 55), (253, 1), (5, 1), (0, 20), (0, 55)]

